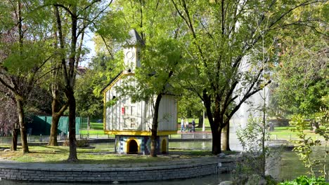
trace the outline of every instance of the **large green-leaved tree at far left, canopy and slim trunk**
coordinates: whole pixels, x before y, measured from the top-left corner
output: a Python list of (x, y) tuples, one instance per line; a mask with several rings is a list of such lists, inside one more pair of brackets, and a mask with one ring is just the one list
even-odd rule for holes
[[(46, 45), (47, 28), (39, 19), (42, 15), (31, 11), (34, 6), (37, 6), (34, 2), (23, 4), (19, 0), (4, 1), (0, 6), (6, 21), (1, 27), (0, 83), (15, 99), (23, 153), (29, 152), (24, 107), (35, 83), (43, 76), (41, 68), (51, 57)], [(17, 129), (15, 126), (13, 132), (16, 141)]]

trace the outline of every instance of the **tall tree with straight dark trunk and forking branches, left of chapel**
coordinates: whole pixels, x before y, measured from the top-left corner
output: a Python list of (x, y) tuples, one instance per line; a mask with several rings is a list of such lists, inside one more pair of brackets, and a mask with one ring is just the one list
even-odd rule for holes
[[(86, 29), (93, 29), (91, 25), (96, 22), (105, 13), (110, 1), (107, 4), (101, 4), (99, 1), (49, 1), (49, 5), (55, 8), (56, 26), (58, 30), (58, 49), (63, 69), (63, 78), (65, 84), (65, 96), (69, 108), (69, 141), (70, 154), (68, 161), (77, 161), (77, 144), (75, 137), (75, 78), (77, 75), (77, 66), (82, 60), (84, 54), (83, 42)], [(65, 20), (65, 22), (63, 22)], [(69, 30), (65, 34), (65, 28)], [(97, 28), (97, 25), (96, 25)]]

